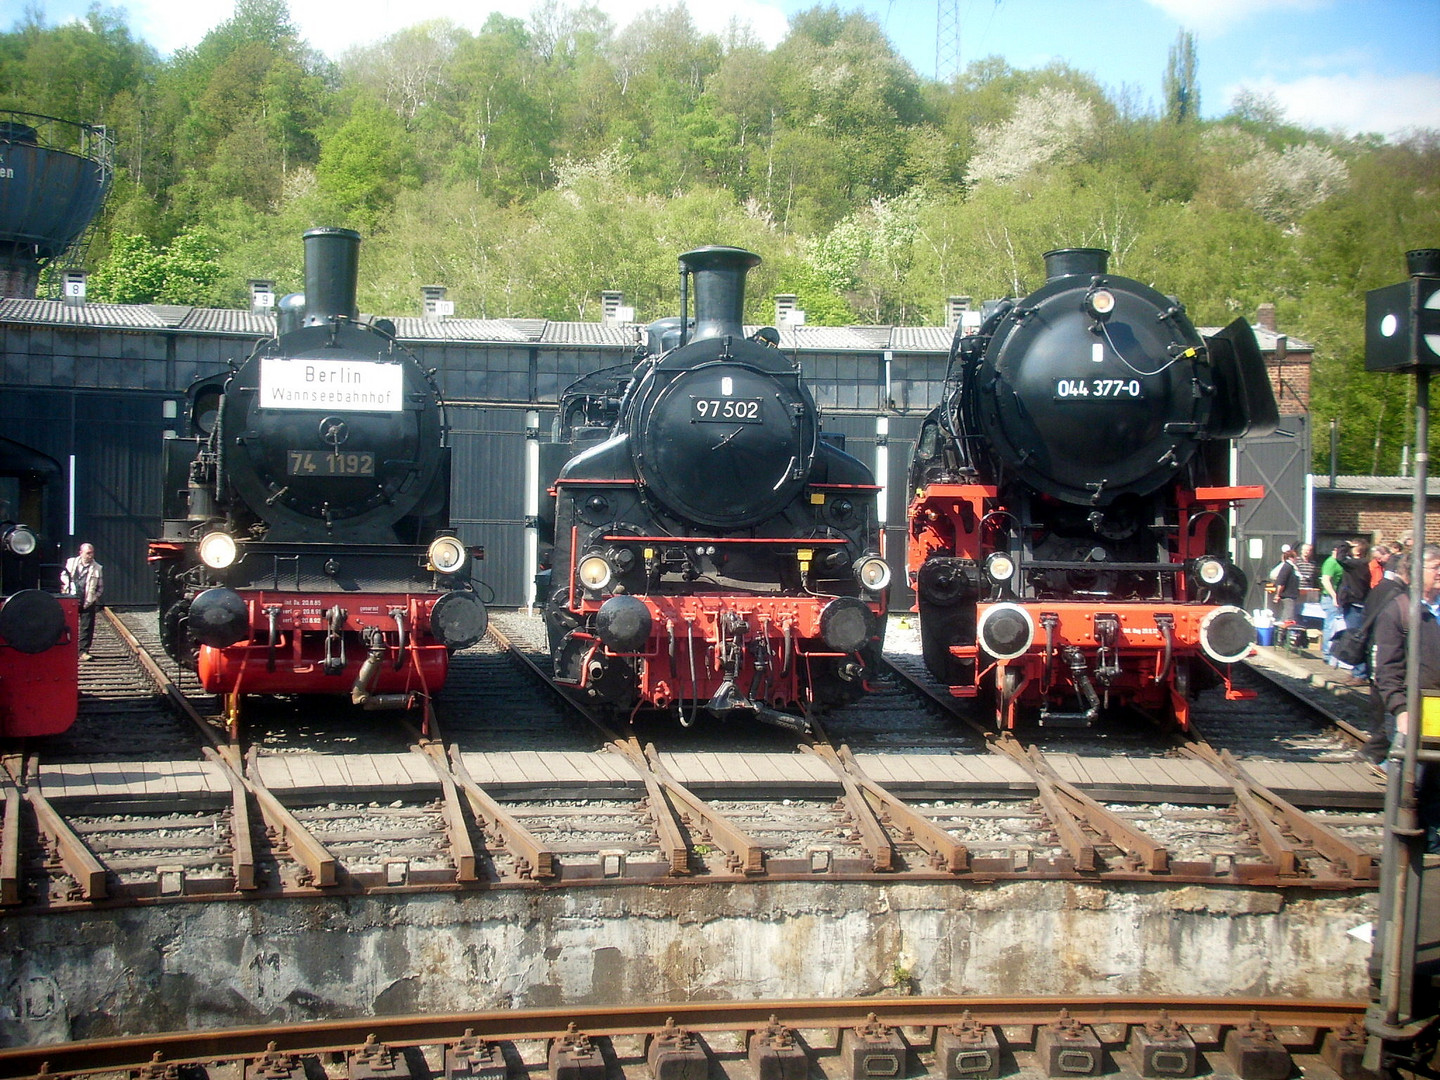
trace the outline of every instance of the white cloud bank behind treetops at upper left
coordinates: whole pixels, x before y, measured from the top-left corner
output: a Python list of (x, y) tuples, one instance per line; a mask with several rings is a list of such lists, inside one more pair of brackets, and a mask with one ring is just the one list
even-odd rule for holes
[[(194, 3), (194, 0), (131, 0), (124, 4), (137, 36), (161, 53), (193, 46), (220, 22), (230, 17), (233, 6)], [(668, 6), (665, 0), (602, 0), (598, 4), (616, 29), (624, 29), (638, 14)], [(765, 45), (775, 46), (785, 37), (789, 22), (778, 0), (729, 0), (724, 4), (685, 0), (690, 17), (701, 33), (723, 35), (734, 19), (749, 23)], [(300, 36), (330, 58), (338, 58), (356, 45), (372, 45), (390, 35), (433, 19), (449, 19), (469, 30), (480, 30), (492, 12), (527, 17), (530, 7), (488, 0), (289, 0), (289, 14)]]

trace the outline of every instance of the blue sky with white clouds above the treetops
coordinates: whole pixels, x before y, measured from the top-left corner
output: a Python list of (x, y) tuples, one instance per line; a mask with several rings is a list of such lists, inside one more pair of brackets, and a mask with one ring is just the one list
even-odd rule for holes
[[(677, 0), (595, 0), (625, 26)], [(789, 17), (816, 0), (680, 0), (696, 24), (721, 33), (732, 17), (776, 45)], [(1165, 62), (1176, 35), (1195, 35), (1201, 112), (1228, 111), (1243, 89), (1273, 95), (1286, 118), (1345, 134), (1440, 131), (1440, 0), (834, 0), (884, 27), (923, 76), (936, 75), (937, 6), (960, 22), (962, 66), (1002, 56), (1014, 68), (1063, 60), (1112, 95), (1158, 109)], [(92, 0), (0, 0), (7, 24), (22, 4), (48, 23), (84, 14)], [(102, 0), (104, 3), (104, 0)], [(572, 3), (576, 6), (577, 0)], [(229, 0), (108, 0), (131, 32), (163, 55), (197, 43), (229, 17)], [(491, 12), (524, 16), (530, 0), (289, 0), (301, 36), (338, 58), (422, 19), (446, 17), (478, 30)]]

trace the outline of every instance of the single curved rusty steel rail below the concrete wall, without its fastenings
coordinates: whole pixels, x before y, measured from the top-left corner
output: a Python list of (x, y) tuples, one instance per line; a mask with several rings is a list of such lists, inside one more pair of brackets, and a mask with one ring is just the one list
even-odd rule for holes
[[(387, 1047), (455, 1044), (471, 1040), (559, 1038), (575, 1030), (590, 1037), (657, 1032), (668, 1024), (690, 1031), (763, 1031), (772, 1020), (796, 1030), (890, 1027), (939, 1028), (972, 1022), (991, 1027), (1044, 1025), (1063, 1012), (1079, 1024), (1145, 1025), (1164, 1014), (1181, 1025), (1236, 1027), (1256, 1020), (1270, 1027), (1336, 1030), (1364, 1015), (1367, 1002), (1348, 999), (1187, 996), (1015, 996), (860, 998), (850, 1001), (664, 1002), (616, 1007), (500, 1009), (433, 1017), (363, 1017), (288, 1025), (173, 1031), (0, 1050), (0, 1077), (65, 1077), (259, 1058), (268, 1051), (317, 1054), (356, 1050), (370, 1037)], [(575, 1025), (572, 1028), (572, 1025)], [(156, 1056), (160, 1056), (158, 1058)]]

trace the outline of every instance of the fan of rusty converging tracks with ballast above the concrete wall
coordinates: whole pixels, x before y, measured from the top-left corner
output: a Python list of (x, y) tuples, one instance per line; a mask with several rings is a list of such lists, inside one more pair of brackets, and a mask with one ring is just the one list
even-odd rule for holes
[[(150, 655), (144, 619), (112, 619), (117, 654), (130, 638), (135, 660), (127, 674), (104, 642), (95, 677), (121, 688), (85, 691), (104, 723), (63, 753), (6, 760), (0, 899), (66, 910), (818, 876), (1375, 883), (1380, 780), (1292, 706), (1224, 703), (1214, 711), (1234, 730), (1217, 742), (1138, 727), (1021, 743), (965, 724), (897, 654), (873, 713), (840, 710), (796, 746), (773, 729), (677, 733), (590, 714), (541, 678), (536, 621), (497, 624), (456, 658), (439, 737), (281, 706), (242, 750), (215, 703)], [(1274, 730), (1236, 723), (1240, 707), (1269, 710)], [(1211, 723), (1204, 704), (1197, 717)], [(141, 744), (168, 740), (163, 757), (135, 759), (117, 734), (141, 719)], [(121, 753), (101, 757), (109, 742)]]

